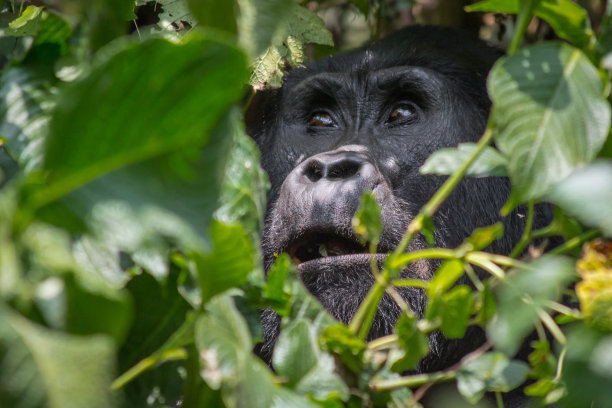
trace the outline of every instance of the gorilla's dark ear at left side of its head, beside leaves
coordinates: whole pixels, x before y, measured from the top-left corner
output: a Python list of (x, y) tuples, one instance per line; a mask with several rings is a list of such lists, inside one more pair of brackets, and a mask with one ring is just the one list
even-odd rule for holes
[(262, 139), (269, 134), (274, 126), (278, 112), (278, 89), (253, 90), (252, 96), (247, 97), (244, 124), (247, 135), (251, 136), (258, 145), (264, 143)]

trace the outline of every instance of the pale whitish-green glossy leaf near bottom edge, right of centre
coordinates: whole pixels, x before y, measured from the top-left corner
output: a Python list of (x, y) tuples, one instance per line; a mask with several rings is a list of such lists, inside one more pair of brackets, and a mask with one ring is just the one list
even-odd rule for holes
[(521, 385), (529, 367), (522, 361), (508, 360), (502, 353), (485, 353), (466, 361), (457, 371), (457, 388), (470, 403), (477, 403), (485, 391), (508, 392)]

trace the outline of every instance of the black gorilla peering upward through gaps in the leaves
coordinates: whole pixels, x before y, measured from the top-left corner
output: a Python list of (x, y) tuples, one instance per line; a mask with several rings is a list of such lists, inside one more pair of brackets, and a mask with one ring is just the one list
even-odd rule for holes
[[(382, 209), (379, 263), (408, 223), (443, 182), (419, 174), (436, 150), (477, 141), (490, 102), (486, 77), (501, 55), (470, 35), (413, 26), (356, 51), (291, 71), (283, 87), (258, 94), (247, 114), (249, 134), (262, 152), (271, 181), (263, 234), (264, 263), (287, 252), (308, 290), (338, 320), (348, 323), (373, 277), (367, 249), (351, 227), (365, 191)], [(509, 184), (502, 178), (466, 179), (434, 217), (436, 246), (456, 247), (474, 228), (499, 220)], [(508, 253), (521, 234), (517, 214), (504, 220), (506, 235), (489, 248)], [(425, 248), (422, 237), (408, 250)], [(412, 264), (402, 277), (431, 278), (437, 261)], [(423, 315), (422, 290), (398, 288)], [(385, 296), (369, 337), (393, 331), (399, 307)], [(264, 359), (279, 318), (263, 313)], [(482, 333), (449, 341), (432, 335), (423, 371), (443, 368), (476, 348)]]

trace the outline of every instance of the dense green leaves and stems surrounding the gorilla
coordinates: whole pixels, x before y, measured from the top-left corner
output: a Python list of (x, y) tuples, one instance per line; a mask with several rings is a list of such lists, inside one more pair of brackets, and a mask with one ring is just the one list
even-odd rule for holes
[[(396, 3), (411, 4), (347, 6), (379, 32)], [(305, 292), (287, 256), (264, 279), (267, 182), (242, 124), (255, 89), (331, 52), (313, 12), (322, 5), (307, 6), (4, 1), (1, 406), (403, 407), (443, 381), (456, 382), (447, 406), (460, 406), (489, 404), (485, 392), (499, 397), (526, 379), (536, 402), (612, 406), (612, 7), (597, 33), (570, 0), (468, 7), (516, 15), (508, 56), (488, 79), (493, 110), (481, 141), (423, 166), (452, 175), (404, 242), (432, 236), (431, 215), (462, 177), (492, 174), (512, 181), (502, 211), (524, 207), (523, 238), (511, 256), (483, 251), (503, 235), (499, 225), (456, 249), (400, 248), (346, 326)], [(563, 41), (522, 47), (534, 16)], [(541, 201), (554, 203), (555, 219), (532, 230)], [(376, 207), (366, 196), (354, 220), (370, 242)], [(542, 242), (559, 235), (564, 243), (543, 254)], [(394, 280), (426, 257), (445, 259), (431, 282)], [(474, 292), (453, 285), (464, 273)], [(366, 343), (394, 285), (426, 288), (426, 316), (405, 309), (396, 335)], [(262, 307), (283, 316), (274, 372), (251, 353)], [(460, 364), (402, 374), (428, 352), (428, 333), (459, 338), (469, 325), (485, 328), (488, 342)], [(533, 331), (529, 361), (513, 360)]]

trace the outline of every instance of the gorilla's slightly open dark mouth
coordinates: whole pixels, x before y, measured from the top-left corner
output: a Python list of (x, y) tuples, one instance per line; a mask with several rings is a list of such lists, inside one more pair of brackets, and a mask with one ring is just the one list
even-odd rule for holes
[(286, 251), (296, 265), (320, 258), (368, 254), (365, 245), (334, 233), (311, 233), (296, 240)]

